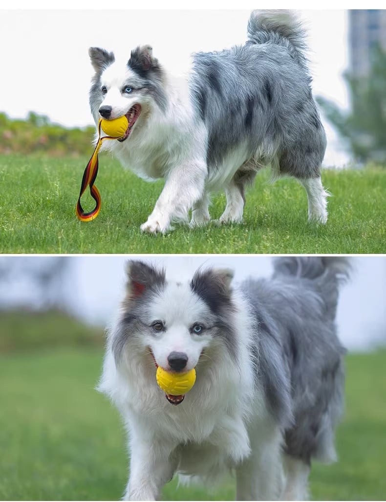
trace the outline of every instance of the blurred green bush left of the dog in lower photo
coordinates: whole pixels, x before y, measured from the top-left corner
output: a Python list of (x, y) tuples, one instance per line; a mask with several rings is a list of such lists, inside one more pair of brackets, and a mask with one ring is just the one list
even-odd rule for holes
[(101, 328), (86, 326), (60, 310), (0, 311), (0, 353), (76, 346), (103, 347)]

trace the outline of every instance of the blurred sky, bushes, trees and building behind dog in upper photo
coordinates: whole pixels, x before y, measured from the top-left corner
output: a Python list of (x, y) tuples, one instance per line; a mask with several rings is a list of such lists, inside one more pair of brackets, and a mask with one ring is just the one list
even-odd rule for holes
[[(144, 43), (176, 75), (189, 54), (246, 40), (250, 10), (6, 10), (0, 153), (87, 154), (90, 46), (127, 61)], [(386, 10), (298, 11), (328, 137), (326, 167), (386, 164)], [(214, 29), (214, 26), (216, 29)], [(27, 43), (26, 43), (27, 41)], [(86, 133), (86, 134), (85, 134)]]

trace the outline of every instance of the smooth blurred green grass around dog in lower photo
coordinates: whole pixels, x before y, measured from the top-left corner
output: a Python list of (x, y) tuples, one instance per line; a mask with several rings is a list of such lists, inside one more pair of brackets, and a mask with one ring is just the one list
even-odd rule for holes
[[(19, 329), (50, 321), (28, 315)], [(51, 317), (49, 317), (51, 319)], [(13, 322), (0, 315), (0, 338), (12, 336)], [(0, 354), (0, 499), (117, 500), (127, 477), (124, 431), (118, 413), (95, 390), (102, 347), (72, 346), (81, 328), (68, 326), (61, 346), (46, 337), (23, 351)], [(88, 335), (87, 335), (88, 336)], [(96, 334), (99, 338), (99, 334)], [(51, 345), (51, 347), (50, 347)], [(382, 500), (386, 493), (386, 351), (349, 354), (346, 358), (346, 413), (337, 432), (339, 461), (315, 464), (310, 489), (315, 500)], [(233, 478), (214, 493), (200, 486), (177, 487), (173, 480), (165, 500), (232, 500)]]

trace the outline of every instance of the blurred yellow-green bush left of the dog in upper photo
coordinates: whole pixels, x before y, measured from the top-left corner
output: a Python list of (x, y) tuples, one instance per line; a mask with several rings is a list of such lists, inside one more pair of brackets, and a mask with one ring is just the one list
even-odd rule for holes
[(78, 157), (90, 154), (95, 128), (67, 129), (33, 111), (26, 120), (0, 112), (0, 153), (46, 154)]

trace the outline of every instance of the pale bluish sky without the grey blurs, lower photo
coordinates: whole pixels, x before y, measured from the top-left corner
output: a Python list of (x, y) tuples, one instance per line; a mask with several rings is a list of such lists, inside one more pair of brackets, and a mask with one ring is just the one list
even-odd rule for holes
[[(201, 266), (228, 267), (235, 271), (235, 282), (246, 277), (269, 277), (272, 259), (260, 256), (162, 256), (139, 257), (158, 267), (165, 267), (167, 277), (190, 280)], [(49, 260), (36, 257), (34, 260)], [(0, 260), (7, 260), (0, 257)], [(23, 257), (18, 257), (23, 260)], [(352, 351), (369, 350), (386, 345), (386, 258), (354, 257), (352, 278), (341, 288), (337, 311), (338, 333), (343, 344)], [(70, 268), (62, 290), (70, 311), (87, 323), (106, 326), (114, 318), (124, 296), (124, 256), (71, 257)], [(1, 264), (0, 264), (1, 265)], [(29, 303), (37, 295), (25, 281), (0, 284), (0, 304)]]

